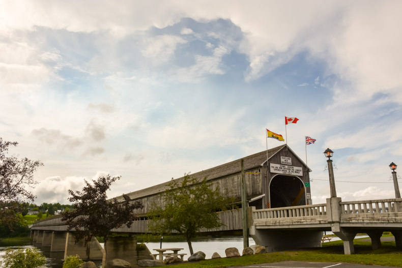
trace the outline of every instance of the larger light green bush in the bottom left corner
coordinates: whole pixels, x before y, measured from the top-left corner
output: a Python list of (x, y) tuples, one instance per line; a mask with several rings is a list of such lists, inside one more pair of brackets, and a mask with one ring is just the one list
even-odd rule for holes
[(4, 267), (8, 268), (35, 268), (46, 263), (46, 257), (37, 249), (8, 249), (3, 261)]

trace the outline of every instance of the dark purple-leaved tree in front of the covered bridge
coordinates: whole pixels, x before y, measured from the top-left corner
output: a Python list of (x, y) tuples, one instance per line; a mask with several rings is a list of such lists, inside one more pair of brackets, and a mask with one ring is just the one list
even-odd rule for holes
[(92, 184), (84, 180), (85, 186), (81, 192), (68, 190), (71, 195), (68, 200), (73, 202), (74, 210), (65, 211), (62, 215), (63, 220), (67, 221), (68, 230), (74, 229), (75, 242), (83, 240), (88, 245), (93, 236), (101, 236), (107, 253), (106, 242), (111, 229), (123, 225), (130, 227), (137, 219), (134, 210), (142, 209), (140, 201), (131, 202), (126, 194), (123, 194), (123, 201), (107, 199), (106, 191), (116, 180), (120, 180), (120, 176), (101, 176), (97, 181), (92, 180)]

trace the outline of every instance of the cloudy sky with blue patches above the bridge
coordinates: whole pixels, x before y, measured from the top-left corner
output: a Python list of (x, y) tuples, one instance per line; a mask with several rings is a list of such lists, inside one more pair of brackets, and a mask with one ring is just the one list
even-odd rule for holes
[[(386, 0), (0, 0), (0, 136), (19, 143), (10, 154), (44, 164), (37, 204), (69, 203), (68, 189), (108, 173), (121, 176), (114, 197), (284, 143), (266, 129), (307, 161), (313, 203), (330, 197), (326, 148), (343, 201), (394, 198), (400, 10)], [(286, 131), (285, 116), (299, 118)]]

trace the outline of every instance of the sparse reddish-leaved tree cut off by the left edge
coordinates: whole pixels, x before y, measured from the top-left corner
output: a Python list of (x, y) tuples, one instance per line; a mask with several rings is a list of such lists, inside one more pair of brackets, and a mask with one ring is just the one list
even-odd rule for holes
[[(17, 144), (16, 141), (3, 141), (0, 138), (0, 224), (9, 227), (15, 224), (15, 213), (20, 211), (18, 204), (35, 199), (29, 188), (34, 188), (38, 183), (34, 180), (34, 172), (43, 165), (38, 160), (8, 156), (9, 147)], [(7, 213), (6, 210), (13, 211), (14, 214)]]

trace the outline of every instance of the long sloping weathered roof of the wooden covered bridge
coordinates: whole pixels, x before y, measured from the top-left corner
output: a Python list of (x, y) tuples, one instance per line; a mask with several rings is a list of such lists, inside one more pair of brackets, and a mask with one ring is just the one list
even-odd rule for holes
[[(278, 153), (283, 147), (285, 147), (286, 144), (274, 147), (269, 149), (268, 151), (263, 151), (260, 153), (256, 153), (247, 157), (243, 157), (241, 159), (244, 160), (244, 169), (251, 169), (255, 167), (259, 167), (263, 165), (265, 162), (267, 162), (267, 152), (268, 152), (268, 159), (270, 159), (272, 156), (274, 156), (276, 153)], [(214, 180), (215, 178), (223, 177), (226, 175), (234, 174), (241, 172), (241, 165), (240, 165), (240, 160), (234, 160), (232, 162), (228, 162), (226, 164), (222, 164), (213, 168), (209, 168), (203, 171), (199, 171), (196, 173), (192, 173), (191, 176), (195, 177), (199, 180), (202, 180), (204, 177), (207, 177), (207, 180)], [(176, 180), (181, 181), (183, 180), (184, 177), (177, 178)], [(149, 188), (145, 188), (142, 190), (138, 190), (135, 192), (131, 192), (128, 195), (130, 196), (131, 199), (137, 199), (141, 198), (144, 196), (149, 196), (149, 195), (154, 195), (160, 192), (163, 192), (168, 189), (168, 184), (170, 181), (158, 184)], [(122, 196), (117, 197), (118, 200), (123, 199)]]

